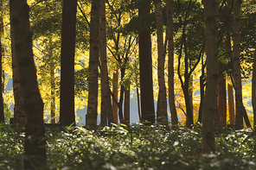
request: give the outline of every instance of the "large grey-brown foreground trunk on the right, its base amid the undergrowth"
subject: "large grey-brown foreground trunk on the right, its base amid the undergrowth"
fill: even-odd
[[[206,91],[202,114],[202,152],[215,152],[214,116],[217,109],[218,95],[218,16],[219,1],[203,1],[204,23],[207,54]]]

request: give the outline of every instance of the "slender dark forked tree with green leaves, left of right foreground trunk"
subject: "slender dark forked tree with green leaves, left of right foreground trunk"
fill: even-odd
[[[181,3],[182,2],[182,3]],[[176,38],[176,54],[178,55],[177,74],[182,85],[186,105],[187,127],[194,124],[194,115],[189,97],[189,81],[196,66],[199,64],[204,51],[204,36],[202,24],[202,5],[190,0],[189,3],[178,0],[176,3],[180,36]],[[185,12],[182,9],[185,8]],[[193,25],[193,26],[192,26]],[[195,46],[197,44],[197,46]]]

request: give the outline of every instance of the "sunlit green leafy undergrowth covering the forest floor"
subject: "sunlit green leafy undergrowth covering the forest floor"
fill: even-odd
[[[22,169],[24,134],[1,125],[0,169]],[[201,126],[97,130],[47,127],[48,169],[255,169],[252,129],[216,132],[215,154],[202,154]]]

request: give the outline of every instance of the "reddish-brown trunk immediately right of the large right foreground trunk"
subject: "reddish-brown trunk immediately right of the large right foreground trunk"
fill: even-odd
[[[218,83],[218,110],[219,110],[219,127],[224,128],[227,126],[227,92],[226,92],[226,79],[221,72],[219,75]]]

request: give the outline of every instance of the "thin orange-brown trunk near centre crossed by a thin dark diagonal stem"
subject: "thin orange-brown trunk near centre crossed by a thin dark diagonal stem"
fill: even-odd
[[[113,97],[118,101],[118,69],[113,73],[113,81],[116,85],[112,85]],[[118,104],[112,100],[113,122],[118,124]]]

